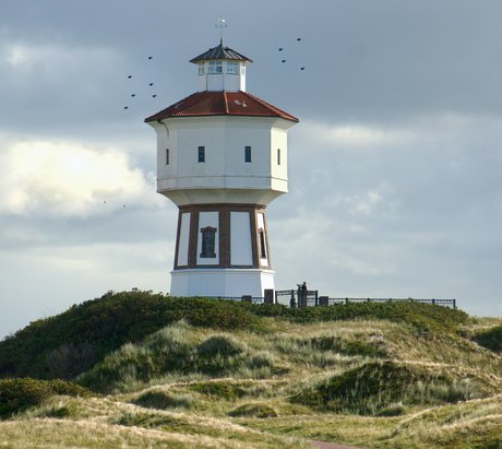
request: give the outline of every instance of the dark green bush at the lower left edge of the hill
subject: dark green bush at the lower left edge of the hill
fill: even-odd
[[[0,380],[0,418],[9,418],[59,394],[82,398],[92,395],[89,390],[64,380],[2,379]]]

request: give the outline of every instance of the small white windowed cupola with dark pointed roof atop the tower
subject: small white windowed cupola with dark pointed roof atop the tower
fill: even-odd
[[[246,66],[251,59],[223,45],[190,60],[198,66],[199,92],[246,92]]]

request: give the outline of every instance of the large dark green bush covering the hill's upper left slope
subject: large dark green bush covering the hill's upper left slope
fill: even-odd
[[[261,319],[232,300],[171,298],[152,292],[108,292],[0,342],[0,377],[75,378],[128,342],[167,324],[261,330]]]

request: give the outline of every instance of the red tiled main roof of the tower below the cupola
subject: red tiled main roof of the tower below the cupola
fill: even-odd
[[[145,121],[163,120],[170,117],[205,116],[280,117],[286,120],[299,121],[290,114],[242,91],[196,92],[145,118]]]

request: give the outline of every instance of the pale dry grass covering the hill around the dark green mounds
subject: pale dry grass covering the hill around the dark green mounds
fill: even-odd
[[[166,364],[151,377],[123,377],[115,394],[53,397],[0,422],[0,447],[307,448],[310,439],[371,448],[502,447],[501,395],[438,406],[411,404],[392,417],[327,413],[290,401],[325,379],[376,361],[477,379],[487,386],[487,394],[502,391],[502,357],[468,338],[418,332],[384,320],[266,320],[267,333],[223,333],[182,322],[144,345],[123,347],[112,357],[127,369],[122,355],[130,363],[136,354],[155,362],[152,354],[189,347],[195,355],[219,357],[219,370],[191,370],[192,359],[186,358],[184,371]],[[477,319],[463,332],[495,324]],[[220,356],[225,351],[231,353],[227,358]],[[239,364],[230,357],[240,357]],[[226,369],[227,362],[231,369]],[[195,361],[193,366],[202,365]]]

